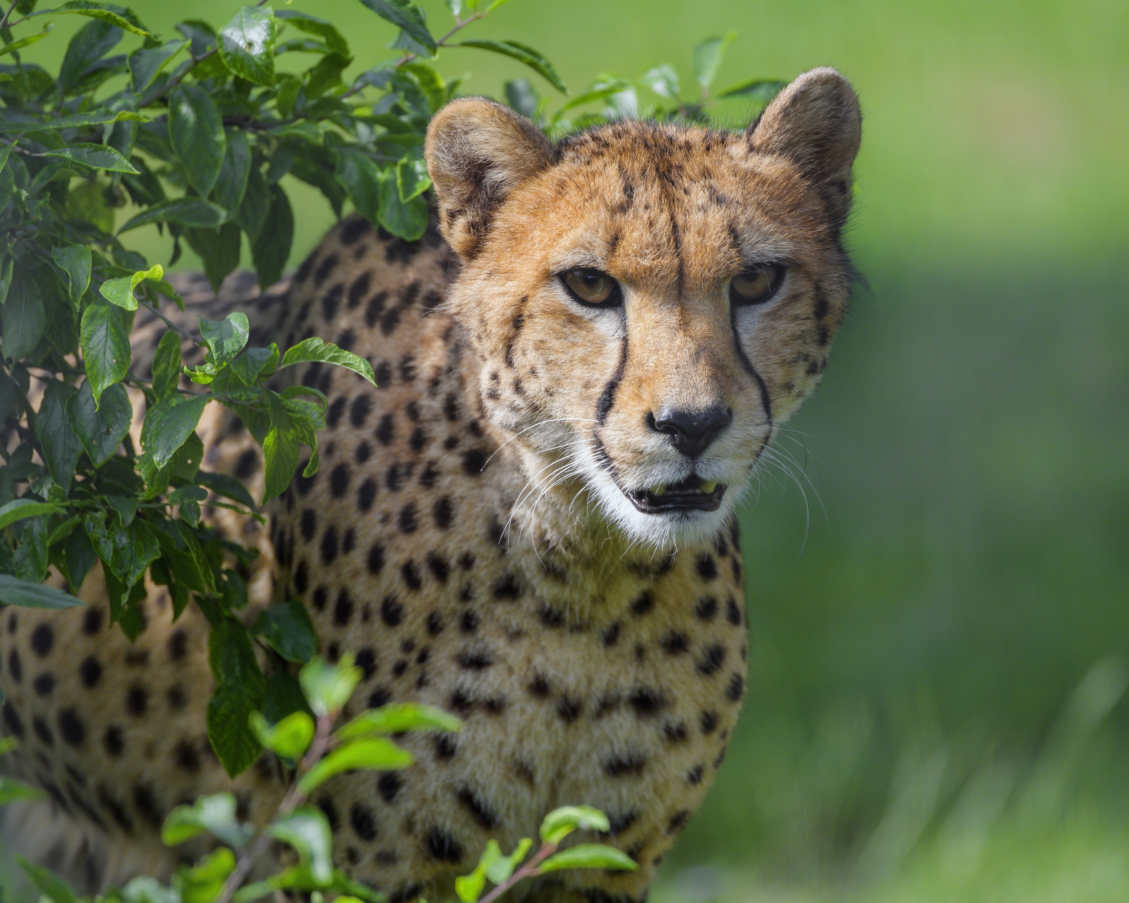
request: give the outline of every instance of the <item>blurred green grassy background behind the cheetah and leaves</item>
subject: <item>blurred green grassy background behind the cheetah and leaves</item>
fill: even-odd
[[[170,35],[236,3],[132,6]],[[356,0],[295,6],[356,71],[394,55]],[[27,59],[56,64],[68,18]],[[467,34],[536,46],[576,90],[659,62],[691,85],[693,44],[730,28],[718,86],[855,85],[866,286],[790,473],[744,516],[750,694],[655,898],[1123,901],[1129,5],[515,0]],[[471,50],[438,68],[495,96],[528,74]],[[289,187],[294,264],[332,214]]]

